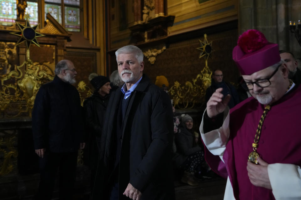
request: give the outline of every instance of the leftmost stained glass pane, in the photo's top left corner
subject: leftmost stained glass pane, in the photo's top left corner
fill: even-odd
[[[17,2],[16,0],[0,1],[0,24],[10,26],[17,19]]]

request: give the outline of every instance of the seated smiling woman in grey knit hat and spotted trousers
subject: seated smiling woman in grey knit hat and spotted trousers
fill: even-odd
[[[174,161],[184,169],[181,181],[194,186],[200,183],[194,174],[204,162],[204,152],[196,141],[192,117],[182,114],[182,126],[180,132],[175,134],[177,156]]]

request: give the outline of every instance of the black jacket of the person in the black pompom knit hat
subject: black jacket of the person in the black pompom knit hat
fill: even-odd
[[[100,136],[103,121],[108,106],[109,96],[102,97],[97,91],[84,101],[84,121],[86,128],[86,146],[84,149],[84,164],[97,166]],[[93,165],[93,166],[92,166]]]

